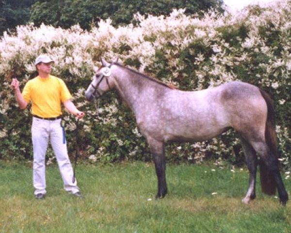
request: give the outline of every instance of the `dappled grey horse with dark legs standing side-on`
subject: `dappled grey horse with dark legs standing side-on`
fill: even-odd
[[[288,194],[278,167],[274,105],[265,91],[240,81],[182,91],[117,60],[108,63],[101,58],[101,63],[85,91],[86,99],[98,99],[114,89],[133,111],[154,159],[156,198],[167,194],[165,143],[205,141],[233,128],[241,139],[249,170],[248,190],[242,202],[256,198],[259,164],[262,192],[275,195],[277,188],[280,203],[286,205]]]

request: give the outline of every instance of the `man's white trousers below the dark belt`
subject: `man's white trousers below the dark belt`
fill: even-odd
[[[32,118],[32,145],[33,145],[33,186],[34,194],[46,194],[46,152],[49,142],[57,158],[64,188],[67,192],[79,191],[77,181],[73,183],[73,168],[70,163],[66,142],[64,143],[61,119],[46,120]]]

